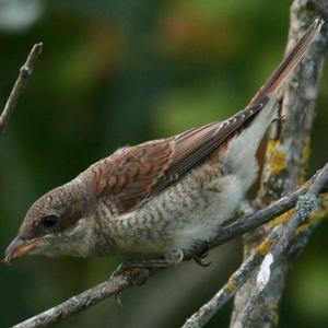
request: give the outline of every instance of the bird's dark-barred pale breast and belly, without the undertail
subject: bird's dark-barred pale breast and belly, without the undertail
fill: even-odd
[[[244,195],[238,177],[224,175],[220,165],[208,162],[133,212],[112,218],[117,251],[187,250],[213,236]]]

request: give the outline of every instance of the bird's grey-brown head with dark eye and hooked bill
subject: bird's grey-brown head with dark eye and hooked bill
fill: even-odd
[[[32,254],[83,256],[87,200],[80,189],[70,183],[40,197],[8,246],[4,262]]]

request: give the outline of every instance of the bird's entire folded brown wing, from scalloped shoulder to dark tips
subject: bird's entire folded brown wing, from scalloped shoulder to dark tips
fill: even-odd
[[[196,167],[245,126],[268,102],[239,112],[223,122],[190,129],[164,140],[125,148],[93,165],[91,180],[98,197],[114,201],[124,213],[165,189]]]

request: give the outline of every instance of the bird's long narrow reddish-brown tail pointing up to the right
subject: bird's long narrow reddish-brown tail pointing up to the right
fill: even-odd
[[[303,56],[307,52],[308,48],[315,40],[316,36],[319,34],[320,28],[324,24],[324,20],[315,20],[305,34],[298,39],[296,45],[291,51],[286,54],[284,59],[278,66],[276,71],[267,80],[267,82],[261,86],[257,94],[251,98],[247,107],[256,104],[263,95],[273,94],[279,86],[284,82],[286,77],[293,71],[295,66],[300,62]]]

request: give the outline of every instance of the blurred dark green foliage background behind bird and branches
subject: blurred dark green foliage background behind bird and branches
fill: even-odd
[[[0,250],[25,211],[125,144],[224,119],[247,104],[284,51],[291,1],[0,0],[0,106],[32,45],[35,73],[0,139]],[[327,85],[328,71],[321,85]],[[321,87],[311,173],[327,161]],[[293,268],[280,327],[328,327],[328,226]],[[238,266],[241,241],[183,263],[59,327],[178,327]],[[0,266],[8,327],[105,280],[120,258],[31,257]],[[231,304],[208,327],[227,327]]]

